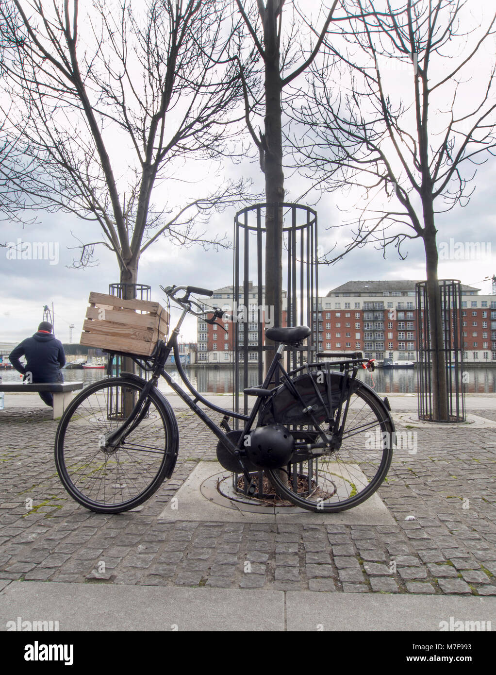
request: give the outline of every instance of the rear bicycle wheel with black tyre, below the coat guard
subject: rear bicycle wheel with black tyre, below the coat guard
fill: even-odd
[[[339,391],[341,377],[333,374],[333,390]],[[304,431],[316,436],[313,427]],[[296,506],[323,513],[344,511],[362,504],[383,483],[393,456],[393,432],[383,401],[373,389],[354,381],[339,450],[267,473],[281,497]]]

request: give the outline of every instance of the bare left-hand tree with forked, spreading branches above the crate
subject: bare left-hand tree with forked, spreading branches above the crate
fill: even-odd
[[[244,182],[210,187],[213,162],[233,155],[228,122],[242,94],[226,52],[236,32],[228,5],[92,0],[82,14],[78,0],[0,2],[0,101],[13,103],[3,113],[22,160],[9,190],[99,223],[103,239],[83,242],[78,264],[105,244],[121,282],[134,284],[140,255],[163,234],[182,246],[224,243],[198,223],[244,196]],[[206,187],[190,178],[194,167],[186,173],[192,160],[204,161]]]

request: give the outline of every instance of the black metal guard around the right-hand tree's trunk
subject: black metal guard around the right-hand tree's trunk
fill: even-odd
[[[463,386],[464,346],[462,321],[462,284],[453,279],[439,281],[443,345],[437,351],[444,358],[448,420],[437,420],[433,413],[433,352],[427,282],[415,285],[417,314],[418,418],[433,422],[464,422],[465,391]]]

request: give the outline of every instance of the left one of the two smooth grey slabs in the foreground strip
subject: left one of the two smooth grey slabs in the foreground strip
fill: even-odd
[[[0,593],[0,630],[7,630],[9,621],[17,624],[18,617],[30,622],[58,621],[61,631],[284,630],[284,594],[13,582]]]

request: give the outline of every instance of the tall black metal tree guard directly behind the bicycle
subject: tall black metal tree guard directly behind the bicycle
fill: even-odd
[[[270,207],[274,208],[274,205]],[[284,202],[275,207],[283,208],[283,288],[286,288],[283,290],[283,325],[308,325],[312,329],[305,348],[286,350],[285,368],[290,371],[303,365],[305,360],[312,362],[312,355],[315,354],[318,344],[314,333],[314,325],[318,327],[318,322],[315,324],[313,320],[319,298],[317,215],[313,209],[300,204]],[[265,304],[263,286],[266,231],[262,223],[265,222],[266,209],[267,204],[256,204],[238,211],[234,217],[233,314],[240,307],[244,310],[244,322],[235,321],[233,330],[233,408],[238,412],[240,389],[248,387],[248,365],[256,363],[258,381],[263,382],[264,354],[272,355],[275,350],[273,346],[263,344],[265,322],[269,317],[261,315],[261,308]],[[253,288],[255,284],[256,292]],[[256,298],[251,297],[254,295]],[[254,312],[250,312],[250,305],[256,306],[256,317]],[[250,325],[254,323],[256,327],[250,330]],[[256,340],[250,340],[250,333],[252,336],[256,333]],[[248,396],[244,396],[243,407],[244,414],[247,414]],[[308,476],[314,477],[312,462],[308,464]],[[254,496],[273,497],[264,493],[263,478],[264,472],[260,470],[258,493]],[[246,485],[238,487],[239,481],[243,483],[241,479],[242,475],[234,474],[233,487],[236,491],[246,493]]]

